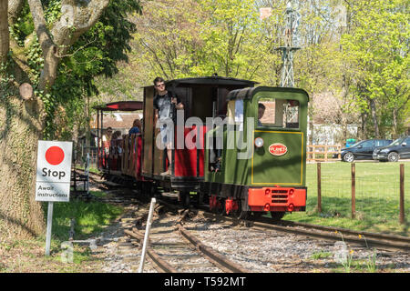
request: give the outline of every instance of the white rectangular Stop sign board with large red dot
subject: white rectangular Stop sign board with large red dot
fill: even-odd
[[[72,151],[72,142],[38,141],[36,201],[69,201]]]

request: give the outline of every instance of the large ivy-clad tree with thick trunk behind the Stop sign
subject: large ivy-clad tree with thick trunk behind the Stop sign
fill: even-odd
[[[12,60],[0,72],[1,240],[44,232],[43,211],[34,201],[37,140],[69,135],[43,133],[47,125],[75,124],[84,110],[83,97],[96,91],[93,76],[117,72],[116,62],[127,59],[134,29],[127,14],[140,11],[132,0],[17,2],[10,1],[16,9],[8,15]],[[35,88],[34,94],[19,94],[24,82]],[[64,117],[52,117],[56,112]]]

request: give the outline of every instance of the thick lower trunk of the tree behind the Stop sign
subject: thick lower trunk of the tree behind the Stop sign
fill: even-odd
[[[45,233],[42,206],[35,201],[42,125],[36,100],[22,101],[16,88],[0,95],[0,241],[9,241]]]

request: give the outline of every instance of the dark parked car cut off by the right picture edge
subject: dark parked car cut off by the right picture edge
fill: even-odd
[[[410,158],[410,135],[397,138],[389,146],[374,149],[373,158],[389,162],[397,162],[400,158]]]

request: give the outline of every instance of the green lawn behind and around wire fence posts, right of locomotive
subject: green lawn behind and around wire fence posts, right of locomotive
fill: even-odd
[[[406,226],[399,224],[400,164],[405,164]],[[322,164],[322,213],[317,212],[317,165],[308,164],[308,199],[305,213],[284,219],[323,226],[409,236],[410,162],[356,163],[356,218],[351,219],[351,164]]]

